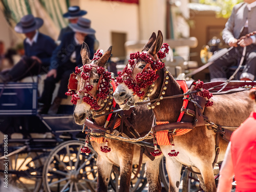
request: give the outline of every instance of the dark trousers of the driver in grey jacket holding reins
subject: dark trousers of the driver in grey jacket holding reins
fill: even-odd
[[[210,78],[228,78],[227,73],[229,67],[238,66],[243,54],[243,48],[238,46],[231,49],[228,53],[217,59],[209,66]],[[244,58],[245,68],[242,73],[251,73],[256,76],[256,46],[250,45],[246,47]]]

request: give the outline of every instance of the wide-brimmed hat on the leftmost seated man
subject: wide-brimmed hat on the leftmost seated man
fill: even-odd
[[[20,19],[20,22],[17,23],[14,30],[17,33],[29,33],[31,31],[39,29],[42,24],[44,24],[44,20],[29,14],[23,16],[22,19]]]

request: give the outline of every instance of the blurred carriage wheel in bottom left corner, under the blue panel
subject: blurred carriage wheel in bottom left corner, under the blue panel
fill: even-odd
[[[37,192],[42,185],[42,159],[37,152],[26,150],[8,157],[8,182],[14,188]]]

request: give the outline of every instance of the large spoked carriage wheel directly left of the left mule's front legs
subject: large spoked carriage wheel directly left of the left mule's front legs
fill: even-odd
[[[97,186],[97,153],[80,152],[84,141],[66,141],[50,153],[43,170],[45,191],[95,191]]]

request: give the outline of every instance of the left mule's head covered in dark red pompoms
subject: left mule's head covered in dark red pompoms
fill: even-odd
[[[104,68],[104,65],[110,58],[111,51],[112,46],[104,54],[102,54],[102,50],[99,50],[93,60],[90,60],[90,51],[87,44],[83,43],[82,45],[81,57],[83,66],[77,70],[78,92],[73,114],[77,124],[83,124],[86,118],[94,111],[104,107],[103,100],[105,95],[108,94],[107,89],[110,88],[108,87],[108,83],[111,78],[111,73]],[[108,81],[106,86],[103,85],[105,80]]]

